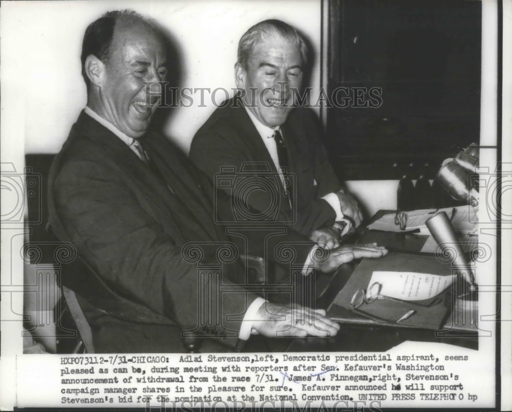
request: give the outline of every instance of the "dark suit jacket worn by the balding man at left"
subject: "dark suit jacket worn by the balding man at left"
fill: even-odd
[[[182,255],[186,243],[202,242],[203,264],[216,261],[219,242],[231,242],[241,253],[265,256],[268,251],[261,231],[244,242],[228,237],[224,226],[215,223],[209,179],[172,143],[151,132],[142,139],[156,171],[82,112],[49,174],[52,228],[76,246],[94,272],[81,285],[75,282],[74,289],[82,298],[98,352],[183,350],[179,332],[194,329],[204,313],[204,302],[198,301],[198,263]],[[288,232],[269,238],[268,248],[305,240]],[[310,246],[297,246],[297,260],[305,261]],[[222,285],[235,289],[219,297],[224,327],[210,324],[203,332],[217,335],[227,329],[228,336],[236,335],[255,295],[244,290],[240,260],[224,265],[222,276]],[[98,296],[93,291],[83,299],[87,294],[82,288],[96,280],[111,296],[98,287]],[[112,301],[131,307],[116,311]]]

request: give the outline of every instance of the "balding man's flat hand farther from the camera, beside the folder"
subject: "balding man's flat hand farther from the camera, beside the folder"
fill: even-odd
[[[321,249],[318,251],[322,251]],[[324,273],[333,272],[343,263],[348,263],[354,259],[361,258],[379,258],[386,256],[388,250],[384,246],[377,246],[377,243],[369,244],[346,244],[340,248],[333,249],[327,259],[321,258],[321,253],[316,255],[318,259],[314,259],[315,269]]]

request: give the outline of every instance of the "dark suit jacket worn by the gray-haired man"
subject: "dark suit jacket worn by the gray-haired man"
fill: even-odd
[[[190,159],[212,181],[221,167],[234,166],[239,173],[244,162],[264,162],[276,174],[270,154],[241,100],[233,98],[225,101],[223,106],[210,116],[194,136]],[[287,172],[295,177],[292,189],[295,222],[291,227],[309,236],[313,230],[334,223],[335,213],[321,197],[338,191],[341,186],[319,139],[321,127],[311,110],[293,109],[281,130],[290,163]],[[255,168],[259,166],[250,166],[250,170]],[[236,195],[240,195],[240,192]],[[247,200],[254,209],[265,211],[273,201],[270,196],[269,192],[259,191],[257,196],[248,197]],[[280,199],[280,208],[283,216],[290,213],[289,203],[284,197]],[[284,220],[287,220],[286,217],[283,217]]]

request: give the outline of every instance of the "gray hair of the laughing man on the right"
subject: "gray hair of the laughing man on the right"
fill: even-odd
[[[301,51],[303,64],[307,63],[308,46],[306,40],[289,24],[281,20],[271,19],[255,24],[240,38],[238,43],[238,64],[247,69],[254,46],[272,34],[280,34],[286,40],[295,42]]]

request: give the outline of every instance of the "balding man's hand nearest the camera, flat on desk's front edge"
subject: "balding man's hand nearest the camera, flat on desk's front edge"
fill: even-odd
[[[252,327],[263,336],[334,336],[339,325],[327,318],[323,309],[265,302]]]

